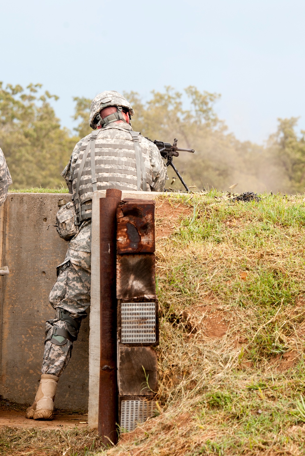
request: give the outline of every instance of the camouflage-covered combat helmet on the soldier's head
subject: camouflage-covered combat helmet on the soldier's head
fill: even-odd
[[[116,92],[115,90],[105,90],[105,92],[96,95],[96,97],[91,102],[89,124],[90,127],[93,128],[93,130],[95,130],[97,125],[101,123],[100,110],[106,108],[107,106],[118,107],[118,112],[115,114],[110,114],[110,116],[115,117],[114,119],[110,119],[107,121],[107,118],[110,117],[107,116],[104,119],[104,124],[109,124],[110,122],[115,122],[116,120],[123,120],[125,122],[125,119],[123,118],[120,112],[122,108],[127,108],[129,110],[130,115],[135,114],[135,111],[132,109],[130,103],[126,100],[126,98],[123,97],[123,95],[121,95],[119,92]]]

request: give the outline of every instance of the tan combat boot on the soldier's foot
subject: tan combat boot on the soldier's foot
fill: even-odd
[[[59,377],[42,374],[33,405],[26,409],[25,418],[53,420],[54,399]]]

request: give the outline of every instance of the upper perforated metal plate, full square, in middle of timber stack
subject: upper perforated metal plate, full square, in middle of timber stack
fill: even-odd
[[[155,342],[155,302],[121,303],[121,342]]]

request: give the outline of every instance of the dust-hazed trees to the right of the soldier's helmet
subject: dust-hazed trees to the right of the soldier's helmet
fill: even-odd
[[[190,86],[185,93],[167,87],[164,93],[152,92],[143,103],[138,93],[125,93],[135,109],[134,130],[150,139],[172,142],[176,137],[180,147],[195,149],[195,154],[180,152],[175,164],[189,186],[197,190],[218,188],[228,190],[238,183],[236,191],[272,190],[273,192],[303,192],[305,187],[305,132],[295,133],[297,119],[278,119],[275,135],[267,146],[241,142],[227,131],[218,119],[214,105],[216,93],[201,93]],[[182,99],[188,99],[189,109]],[[175,173],[169,169],[171,178]],[[182,188],[178,179],[173,188]]]

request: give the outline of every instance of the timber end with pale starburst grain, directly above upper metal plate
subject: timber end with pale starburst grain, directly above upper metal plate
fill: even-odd
[[[155,255],[118,255],[116,297],[131,299],[155,296]]]

